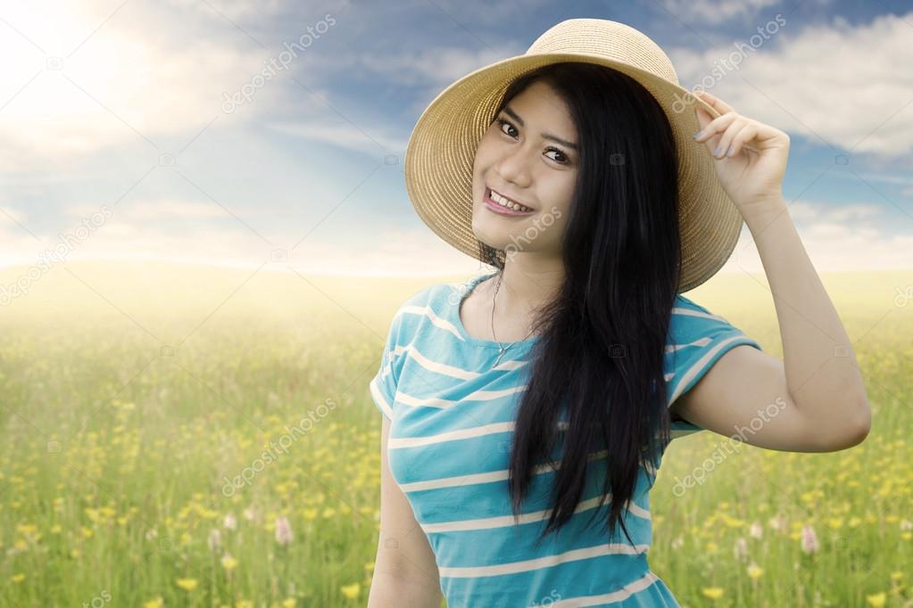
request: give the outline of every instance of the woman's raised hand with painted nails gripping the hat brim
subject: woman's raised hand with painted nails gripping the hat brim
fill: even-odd
[[[720,114],[713,118],[695,105],[701,129],[696,141],[706,142],[719,183],[742,215],[782,200],[790,137],[770,125],[741,116],[706,91],[695,91],[694,95]],[[719,155],[714,155],[718,146]],[[726,156],[730,146],[731,156]]]

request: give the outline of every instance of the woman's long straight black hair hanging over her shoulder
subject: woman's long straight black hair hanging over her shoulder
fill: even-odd
[[[576,126],[580,165],[561,243],[564,283],[534,321],[529,384],[510,453],[516,519],[533,468],[551,459],[567,408],[561,466],[541,541],[571,519],[586,486],[588,456],[606,450],[598,507],[611,493],[613,534],[636,489],[639,468],[655,471],[669,442],[663,356],[680,280],[677,149],[656,99],[617,70],[559,63],[509,84],[495,113],[533,82],[551,86]],[[507,252],[479,242],[504,270]],[[650,485],[653,479],[649,480]]]

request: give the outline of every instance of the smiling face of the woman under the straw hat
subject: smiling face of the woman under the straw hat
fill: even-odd
[[[550,86],[535,82],[511,99],[476,149],[472,168],[476,238],[508,255],[557,255],[577,180],[578,144],[571,114]],[[498,195],[531,211],[492,210],[487,200],[498,200]]]

